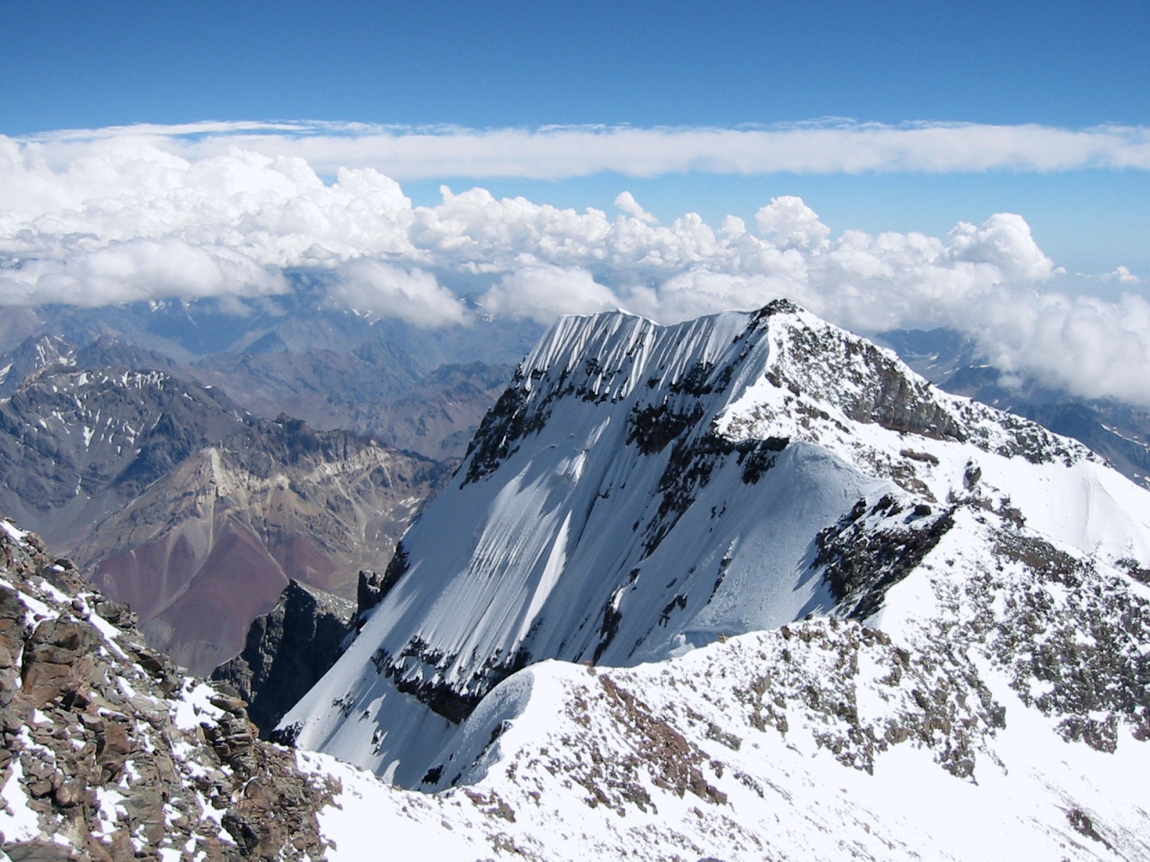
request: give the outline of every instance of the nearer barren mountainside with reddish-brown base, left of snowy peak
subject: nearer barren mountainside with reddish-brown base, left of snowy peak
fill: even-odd
[[[55,367],[0,402],[0,505],[207,674],[290,578],[352,594],[451,468],[166,372]]]

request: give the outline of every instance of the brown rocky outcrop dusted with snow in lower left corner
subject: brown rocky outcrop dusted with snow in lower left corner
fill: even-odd
[[[323,856],[335,786],[259,742],[241,700],[146,647],[36,536],[0,524],[0,786],[23,809],[5,859]]]

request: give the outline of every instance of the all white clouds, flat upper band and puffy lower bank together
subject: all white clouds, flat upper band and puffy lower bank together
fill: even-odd
[[[1150,405],[1150,306],[1140,294],[1118,302],[1065,295],[1059,290],[1065,277],[1018,215],[959,223],[945,237],[853,230],[836,237],[804,201],[790,197],[764,206],[753,228],[734,216],[711,225],[695,214],[660,224],[629,192],[619,195],[619,211],[611,215],[497,199],[483,188],[455,194],[445,187],[439,205],[413,207],[393,178],[363,164],[390,157],[370,156],[377,138],[402,147],[434,139],[448,153],[485,136],[505,146],[478,147],[478,155],[473,153],[478,161],[470,164],[488,164],[497,152],[508,164],[521,160],[515,147],[526,137],[544,154],[576,153],[570,157],[583,160],[580,170],[601,170],[610,161],[606,151],[590,146],[597,143],[615,147],[612,159],[630,154],[635,172],[668,170],[674,168],[667,164],[698,164],[706,146],[731,136],[723,144],[727,155],[713,156],[712,169],[742,170],[741,164],[767,157],[746,141],[776,136],[769,138],[774,151],[767,147],[774,155],[802,155],[807,169],[928,162],[974,169],[992,159],[996,164],[1023,160],[1019,153],[1027,164],[1048,169],[1150,166],[1145,132],[1129,129],[820,126],[421,138],[378,129],[220,124],[59,133],[36,141],[0,137],[0,305],[264,295],[288,290],[283,272],[294,268],[324,271],[334,301],[419,326],[466,322],[461,301],[443,284],[447,276],[467,276],[489,313],[540,322],[614,307],[670,322],[790,297],[864,332],[953,326],[977,338],[1007,371]],[[828,155],[827,141],[843,136],[868,141],[846,167],[845,149]],[[352,153],[347,162],[355,167],[335,167],[335,182],[325,183],[320,174],[329,171],[317,164],[335,157],[322,148],[336,144]],[[308,146],[315,154],[305,157]],[[291,147],[297,149],[286,152]],[[739,162],[733,154],[744,151],[750,161]],[[447,159],[439,152],[424,153],[431,160],[425,163]],[[620,162],[612,163],[619,169]],[[1104,278],[1138,290],[1138,276],[1126,268]]]

